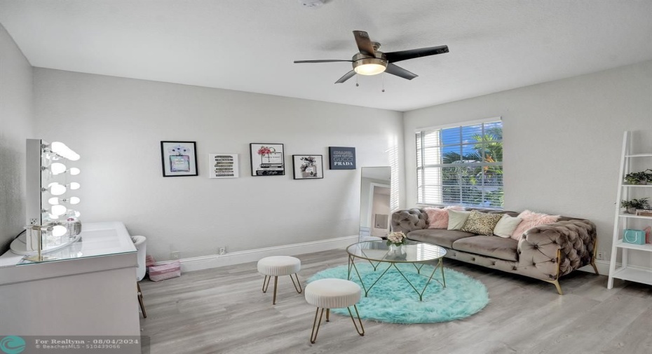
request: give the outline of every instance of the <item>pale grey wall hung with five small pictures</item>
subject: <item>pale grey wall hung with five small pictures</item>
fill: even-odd
[[[358,235],[360,167],[403,155],[397,111],[39,68],[34,102],[39,135],[81,154],[82,221],[122,221],[160,260]],[[196,141],[200,175],[162,177],[161,140]],[[286,175],[252,177],[251,142],[285,144]],[[328,170],[329,146],[358,169]],[[240,154],[240,178],[208,179],[209,153]],[[292,154],[325,177],[293,180]]]

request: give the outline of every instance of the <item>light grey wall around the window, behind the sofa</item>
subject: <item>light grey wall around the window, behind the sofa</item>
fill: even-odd
[[[503,117],[505,209],[591,219],[599,250],[610,252],[623,131],[652,128],[652,61],[405,112],[409,207],[416,128],[496,116]],[[641,261],[652,266],[649,257]]]

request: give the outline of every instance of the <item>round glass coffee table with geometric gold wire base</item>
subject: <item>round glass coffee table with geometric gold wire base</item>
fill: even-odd
[[[369,291],[372,290],[374,285],[376,285],[383,275],[390,270],[390,268],[395,268],[400,275],[403,276],[405,281],[414,289],[417,295],[419,295],[419,301],[423,301],[423,294],[426,292],[426,288],[430,284],[430,281],[433,280],[433,275],[437,268],[440,268],[442,272],[442,282],[435,279],[436,282],[439,282],[443,287],[446,287],[446,278],[444,278],[444,264],[442,259],[446,254],[446,250],[443,247],[432,245],[430,243],[416,242],[416,241],[407,241],[400,248],[400,251],[390,250],[390,247],[386,244],[387,241],[365,241],[360,243],[355,243],[346,247],[346,252],[348,253],[348,280],[351,280],[351,271],[355,271],[360,279],[360,284],[365,290],[365,297],[369,295]],[[393,248],[393,247],[392,247]],[[355,266],[355,259],[362,259],[368,261],[374,268],[374,272],[380,268],[381,264],[387,264],[387,268],[379,275],[376,280],[367,287],[365,282],[362,281],[362,276],[358,271],[358,267]],[[416,273],[421,274],[421,268],[426,265],[426,262],[436,261],[437,265],[433,269],[433,272],[430,273],[428,277],[428,282],[423,287],[423,290],[419,291],[416,289],[414,284],[408,280],[403,271],[396,266],[397,264],[409,263],[414,266]],[[424,275],[426,276],[426,275]]]

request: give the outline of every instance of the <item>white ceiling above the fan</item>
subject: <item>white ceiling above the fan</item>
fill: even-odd
[[[34,67],[407,111],[652,60],[652,1],[0,0],[0,23]],[[419,77],[360,76],[354,29]],[[381,93],[384,86],[385,93]]]

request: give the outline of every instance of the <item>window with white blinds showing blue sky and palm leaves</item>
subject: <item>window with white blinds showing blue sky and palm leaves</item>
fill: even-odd
[[[503,123],[416,132],[417,203],[503,208]]]

